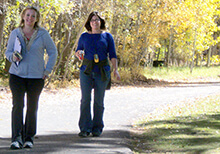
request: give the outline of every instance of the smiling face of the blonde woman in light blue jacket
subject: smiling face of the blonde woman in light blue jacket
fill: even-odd
[[[37,22],[37,12],[33,9],[27,9],[23,16],[24,26],[34,27]]]

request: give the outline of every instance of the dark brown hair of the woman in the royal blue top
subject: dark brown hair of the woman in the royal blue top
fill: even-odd
[[[100,19],[100,22],[101,22],[101,25],[100,25],[100,29],[101,30],[105,30],[106,27],[105,27],[105,20],[102,19],[100,16],[99,16],[99,13],[97,11],[93,11],[89,14],[89,17],[85,23],[85,28],[87,29],[87,31],[92,31],[92,27],[90,26],[90,21],[92,19],[93,16],[97,16],[99,19]]]

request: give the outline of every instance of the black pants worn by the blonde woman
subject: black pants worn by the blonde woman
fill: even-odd
[[[40,93],[44,87],[43,79],[20,78],[10,75],[9,85],[12,92],[12,142],[21,145],[25,141],[33,143],[37,130],[37,110]],[[24,97],[26,93],[27,111],[23,121]]]

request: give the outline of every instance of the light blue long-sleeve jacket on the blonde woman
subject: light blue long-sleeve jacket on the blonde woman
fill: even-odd
[[[19,65],[16,65],[12,60],[16,37],[21,42],[23,57]],[[50,74],[55,65],[57,48],[50,34],[44,28],[39,28],[35,38],[30,42],[31,45],[27,46],[21,28],[16,28],[11,32],[5,52],[6,58],[12,63],[9,73],[22,78],[42,78],[44,75]],[[47,62],[45,61],[45,51],[48,55]]]

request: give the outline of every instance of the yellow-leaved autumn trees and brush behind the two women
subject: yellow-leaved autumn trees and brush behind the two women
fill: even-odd
[[[210,66],[219,63],[218,0],[2,0],[0,2],[0,68],[8,36],[26,5],[37,5],[42,26],[56,43],[59,58],[53,79],[76,77],[77,40],[91,11],[105,18],[115,39],[120,68]]]

